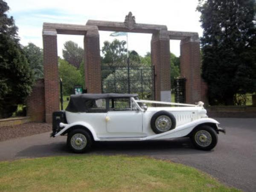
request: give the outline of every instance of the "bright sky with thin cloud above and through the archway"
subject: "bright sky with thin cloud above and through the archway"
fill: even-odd
[[[203,29],[199,22],[200,13],[196,12],[198,0],[6,0],[19,28],[20,43],[29,42],[43,47],[42,27],[44,22],[86,24],[87,20],[125,20],[132,12],[136,23],[166,25],[168,30],[198,32]],[[125,40],[125,36],[111,37],[112,32],[99,31],[100,48],[104,41],[115,38]],[[62,57],[63,44],[74,41],[83,47],[82,35],[58,35],[58,56]],[[150,52],[151,34],[129,33],[129,50],[135,50],[144,56]],[[170,51],[180,55],[180,41],[170,41]]]

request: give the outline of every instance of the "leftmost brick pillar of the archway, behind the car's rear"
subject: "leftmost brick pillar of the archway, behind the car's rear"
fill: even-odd
[[[44,46],[44,88],[45,88],[45,120],[52,122],[52,112],[59,111],[59,77],[57,32],[43,31]]]

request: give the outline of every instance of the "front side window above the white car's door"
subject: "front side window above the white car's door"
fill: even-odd
[[[109,111],[131,111],[130,98],[110,98]]]

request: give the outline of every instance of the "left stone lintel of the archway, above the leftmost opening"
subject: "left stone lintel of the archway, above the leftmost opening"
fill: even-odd
[[[43,35],[57,34],[66,35],[85,35],[89,31],[98,31],[96,26],[76,25],[76,24],[64,24],[64,23],[44,23]]]

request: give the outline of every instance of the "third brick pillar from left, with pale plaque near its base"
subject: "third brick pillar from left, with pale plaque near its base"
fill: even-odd
[[[171,102],[170,38],[167,31],[152,35],[151,62],[155,69],[155,100]]]

